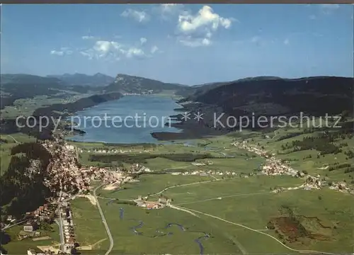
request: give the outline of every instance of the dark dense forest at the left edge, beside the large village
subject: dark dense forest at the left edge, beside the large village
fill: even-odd
[[[2,215],[20,217],[35,210],[51,196],[43,185],[45,170],[51,155],[37,142],[28,142],[11,149],[11,162],[0,180],[0,205]],[[39,171],[30,173],[31,162],[38,162]]]

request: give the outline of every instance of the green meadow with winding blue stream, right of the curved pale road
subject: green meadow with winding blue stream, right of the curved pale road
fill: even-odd
[[[190,215],[186,212],[165,208],[164,210],[144,210],[132,205],[106,205],[101,201],[110,231],[114,239],[113,254],[200,254],[200,247],[195,242],[198,237],[204,236],[204,232],[210,233],[209,239],[202,240],[205,253],[218,251],[220,254],[237,253],[240,251],[236,244],[224,236],[217,225],[209,225],[207,219]],[[119,208],[124,208],[122,219]],[[141,228],[137,228],[141,235],[135,234],[132,227],[143,222]],[[176,223],[185,227],[185,231],[173,225],[164,229],[169,223]],[[159,236],[157,229],[173,234]]]

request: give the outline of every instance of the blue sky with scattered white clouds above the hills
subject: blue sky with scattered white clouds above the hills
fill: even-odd
[[[353,77],[353,5],[2,5],[1,72]]]

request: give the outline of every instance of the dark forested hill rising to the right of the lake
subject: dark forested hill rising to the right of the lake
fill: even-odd
[[[233,115],[255,111],[273,115],[301,111],[312,115],[352,113],[353,86],[354,79],[346,77],[256,77],[208,84],[189,91],[183,101],[222,106]]]

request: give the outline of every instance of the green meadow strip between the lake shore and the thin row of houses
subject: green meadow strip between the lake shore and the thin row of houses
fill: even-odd
[[[185,141],[187,142],[187,141]],[[129,168],[130,163],[124,162],[122,157],[126,159],[134,158],[134,162],[143,164],[147,168],[153,171],[160,170],[172,170],[176,171],[195,171],[200,169],[205,169],[206,171],[237,171],[241,172],[246,170],[249,172],[250,169],[258,169],[258,167],[264,162],[261,158],[254,157],[251,153],[246,152],[242,149],[237,149],[231,145],[232,137],[212,137],[208,139],[193,140],[193,146],[185,145],[185,142],[176,143],[163,143],[161,145],[105,145],[102,143],[85,143],[85,142],[70,142],[79,148],[79,159],[83,164],[89,165],[109,165],[110,162],[99,162],[90,160],[91,155],[98,156],[109,156],[115,153],[100,154],[93,152],[93,150],[105,150],[105,151],[115,151],[122,150],[125,153],[120,154],[121,159],[115,160],[115,162],[124,163],[124,165]],[[81,152],[82,150],[82,152]],[[147,150],[147,151],[145,151]],[[178,154],[190,155],[190,157],[198,157],[198,155],[209,155],[210,160],[214,163],[210,166],[193,166],[191,162],[185,162],[183,160],[173,160],[168,159],[166,156]],[[165,156],[164,156],[165,155]],[[169,156],[170,157],[170,156]],[[230,157],[237,157],[238,161]],[[203,162],[205,159],[196,159],[195,162]]]

